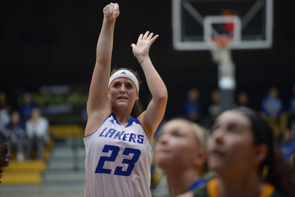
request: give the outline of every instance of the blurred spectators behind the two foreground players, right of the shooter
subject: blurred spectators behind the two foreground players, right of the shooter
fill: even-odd
[[[267,92],[268,94],[256,105],[251,102],[251,96],[247,92],[238,92],[233,108],[245,106],[257,111],[273,128],[281,153],[286,159],[293,161],[295,158],[295,85],[292,87],[290,98],[282,98],[277,86],[269,87]],[[214,119],[222,112],[220,91],[218,89],[211,91],[211,104],[205,114],[202,113],[200,97],[201,94],[196,88],[187,91],[182,116],[210,130]],[[256,109],[254,106],[259,108]]]

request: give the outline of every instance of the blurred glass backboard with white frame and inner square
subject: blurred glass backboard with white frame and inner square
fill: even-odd
[[[273,0],[172,0],[173,47],[210,50],[214,37],[231,49],[272,46]]]

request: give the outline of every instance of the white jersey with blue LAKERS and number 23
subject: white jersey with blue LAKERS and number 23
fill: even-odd
[[[140,122],[126,127],[110,114],[96,132],[83,138],[86,197],[148,197],[152,146]]]

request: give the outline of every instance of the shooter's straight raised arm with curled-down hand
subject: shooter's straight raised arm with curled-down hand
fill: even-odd
[[[104,21],[97,42],[96,63],[91,79],[89,98],[87,101],[87,124],[94,122],[99,124],[100,117],[101,119],[105,119],[106,117],[102,116],[105,113],[111,112],[107,91],[111,70],[114,25],[116,18],[119,15],[119,5],[111,3],[104,8],[103,12]],[[86,130],[89,129],[86,128]]]

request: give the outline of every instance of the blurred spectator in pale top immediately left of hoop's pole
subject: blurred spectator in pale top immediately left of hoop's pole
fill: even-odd
[[[210,127],[213,124],[215,118],[222,112],[222,106],[220,104],[220,91],[214,89],[211,91],[211,104],[208,107],[208,113],[210,115]]]

